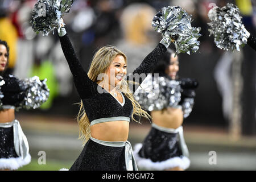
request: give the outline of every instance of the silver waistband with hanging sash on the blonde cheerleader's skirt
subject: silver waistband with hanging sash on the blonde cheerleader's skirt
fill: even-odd
[[[133,148],[131,147],[131,143],[129,141],[126,142],[109,142],[104,140],[98,140],[96,138],[90,137],[93,142],[98,144],[102,144],[104,146],[109,147],[125,147],[125,166],[127,171],[138,171],[137,163],[135,162],[135,158],[133,155]],[[133,165],[134,163],[134,165]]]

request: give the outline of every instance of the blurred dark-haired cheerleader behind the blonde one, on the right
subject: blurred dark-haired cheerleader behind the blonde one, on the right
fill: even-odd
[[[138,168],[180,171],[189,167],[182,123],[192,110],[197,82],[188,78],[177,81],[178,71],[178,57],[168,49],[153,71],[159,76],[148,75],[143,89],[135,92],[139,104],[151,111],[152,117],[150,133],[134,146]]]

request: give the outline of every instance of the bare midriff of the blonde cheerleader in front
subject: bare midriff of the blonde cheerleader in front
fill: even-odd
[[[109,142],[125,142],[129,134],[128,121],[108,121],[90,126],[90,134],[93,138]]]

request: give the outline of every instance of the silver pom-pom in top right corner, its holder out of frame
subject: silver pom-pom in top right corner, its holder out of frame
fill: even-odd
[[[240,46],[247,43],[250,33],[242,23],[242,16],[236,5],[228,3],[222,8],[215,6],[209,11],[208,17],[211,20],[208,23],[209,36],[214,36],[214,43],[218,48],[240,51]]]

